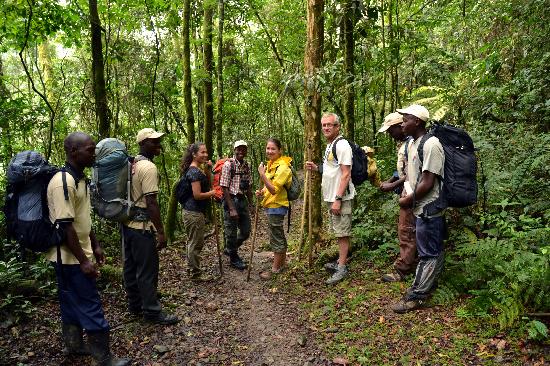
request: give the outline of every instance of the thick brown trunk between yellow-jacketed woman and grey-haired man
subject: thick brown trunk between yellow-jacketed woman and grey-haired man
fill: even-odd
[[[307,1],[307,41],[304,56],[305,69],[305,159],[317,161],[321,156],[321,93],[317,82],[317,73],[322,66],[323,61],[323,41],[324,41],[324,0]],[[311,230],[313,245],[319,238],[321,228],[321,177],[318,173],[313,173],[312,200],[313,205]]]

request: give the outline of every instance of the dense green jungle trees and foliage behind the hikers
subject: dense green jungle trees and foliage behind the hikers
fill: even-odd
[[[256,167],[277,137],[301,169],[321,158],[324,111],[375,148],[385,179],[395,144],[376,132],[396,108],[422,104],[468,131],[479,158],[479,204],[448,215],[438,301],[467,294],[465,314],[545,338],[544,322],[526,314],[550,309],[549,9],[548,0],[1,0],[0,191],[18,151],[61,164],[63,138],[80,130],[135,154],[137,131],[152,127],[167,133],[157,165],[173,216],[190,142],[204,141],[214,161],[246,140]],[[386,264],[396,207],[360,187],[354,246],[385,253]],[[314,209],[319,238],[319,177]]]

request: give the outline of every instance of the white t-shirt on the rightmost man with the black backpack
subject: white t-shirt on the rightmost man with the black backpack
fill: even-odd
[[[407,180],[409,181],[412,189],[416,187],[416,180],[420,174],[420,159],[418,157],[418,145],[422,137],[416,139],[415,141],[411,140],[409,142],[409,163],[407,165]],[[445,167],[445,153],[443,152],[443,146],[439,142],[439,139],[435,136],[430,137],[424,143],[424,156],[422,171],[429,171],[435,175],[443,178],[444,167]],[[434,186],[431,191],[428,192],[421,200],[416,201],[416,207],[413,210],[415,216],[420,217],[422,214],[422,209],[428,203],[435,201],[439,197],[440,186],[443,185],[442,179],[436,178]],[[431,217],[441,216],[443,212],[439,212]]]

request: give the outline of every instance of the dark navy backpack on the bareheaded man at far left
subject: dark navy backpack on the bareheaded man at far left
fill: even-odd
[[[4,215],[8,239],[33,252],[46,252],[60,246],[65,240],[65,231],[50,221],[47,189],[51,178],[59,169],[48,164],[36,151],[23,151],[15,155],[8,165],[8,186]],[[65,199],[69,199],[67,181],[63,176]]]

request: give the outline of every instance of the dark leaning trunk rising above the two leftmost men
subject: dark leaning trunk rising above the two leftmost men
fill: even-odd
[[[103,67],[103,46],[101,44],[101,22],[97,12],[97,0],[88,0],[90,7],[90,26],[92,35],[92,75],[95,97],[96,117],[99,120],[99,138],[108,137],[111,124],[107,89],[105,88],[105,69]]]

